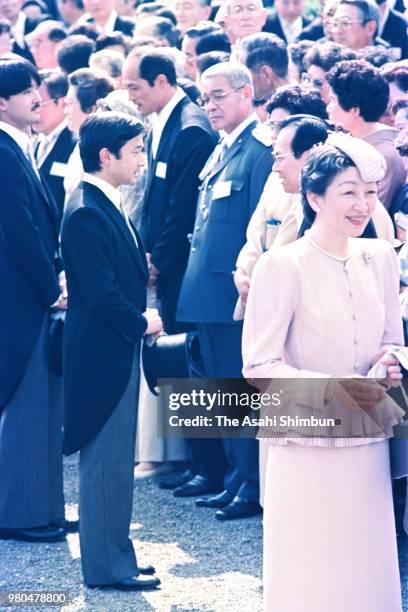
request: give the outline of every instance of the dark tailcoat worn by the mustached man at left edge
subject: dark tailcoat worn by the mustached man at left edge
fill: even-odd
[[[60,294],[58,213],[17,143],[0,130],[0,410],[21,380]]]

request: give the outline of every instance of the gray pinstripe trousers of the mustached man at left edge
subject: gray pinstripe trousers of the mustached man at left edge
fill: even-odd
[[[48,315],[23,377],[0,415],[0,527],[64,519],[61,381],[45,348]]]

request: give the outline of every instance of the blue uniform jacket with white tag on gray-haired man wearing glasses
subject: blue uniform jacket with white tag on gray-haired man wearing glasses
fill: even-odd
[[[272,169],[271,147],[251,123],[217,162],[217,149],[201,178],[196,225],[181,287],[177,320],[231,323],[238,299],[233,270],[246,230]]]

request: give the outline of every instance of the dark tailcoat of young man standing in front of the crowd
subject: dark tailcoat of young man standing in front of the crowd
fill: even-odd
[[[146,331],[146,254],[133,229],[138,247],[121,213],[89,183],[83,184],[82,206],[64,217],[66,454],[83,448],[109,419]]]

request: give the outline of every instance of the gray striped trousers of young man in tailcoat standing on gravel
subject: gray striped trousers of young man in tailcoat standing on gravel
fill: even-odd
[[[80,451],[79,536],[85,584],[138,574],[129,527],[139,393],[137,347],[128,386],[98,435]]]

